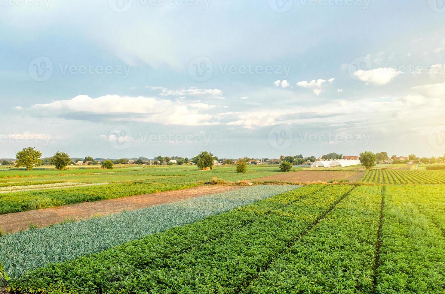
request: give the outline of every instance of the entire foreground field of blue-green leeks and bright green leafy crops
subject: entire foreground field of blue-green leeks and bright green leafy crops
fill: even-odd
[[[17,293],[444,293],[444,211],[441,184],[260,185],[6,235],[0,260]]]

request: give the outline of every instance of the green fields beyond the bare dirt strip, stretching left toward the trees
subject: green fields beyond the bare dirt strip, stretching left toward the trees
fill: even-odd
[[[11,178],[7,175],[16,174]],[[28,183],[39,190],[0,193],[0,214],[57,207],[82,202],[116,199],[134,195],[172,191],[196,187],[216,177],[224,181],[240,181],[279,174],[276,166],[249,167],[247,173],[237,174],[235,167],[214,167],[212,171],[198,171],[194,166],[121,168],[115,170],[75,169],[68,171],[0,171],[2,189],[16,189]],[[2,178],[7,177],[6,179]],[[21,176],[24,176],[21,178]],[[63,182],[103,184],[87,187],[63,187],[49,189],[48,185],[63,185]],[[45,183],[43,183],[45,182]],[[105,185],[106,183],[106,185]],[[48,189],[40,189],[48,187]]]

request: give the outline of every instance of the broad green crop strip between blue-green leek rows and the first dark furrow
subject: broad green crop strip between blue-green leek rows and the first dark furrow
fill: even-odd
[[[306,186],[10,282],[18,293],[235,293],[352,189]]]

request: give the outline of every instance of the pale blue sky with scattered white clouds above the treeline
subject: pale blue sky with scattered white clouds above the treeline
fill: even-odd
[[[0,158],[445,153],[442,0],[0,0]]]

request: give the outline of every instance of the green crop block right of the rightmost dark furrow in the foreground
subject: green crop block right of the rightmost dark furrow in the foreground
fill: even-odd
[[[436,189],[443,209],[443,185],[385,187],[378,293],[445,293],[444,231],[429,219]]]

